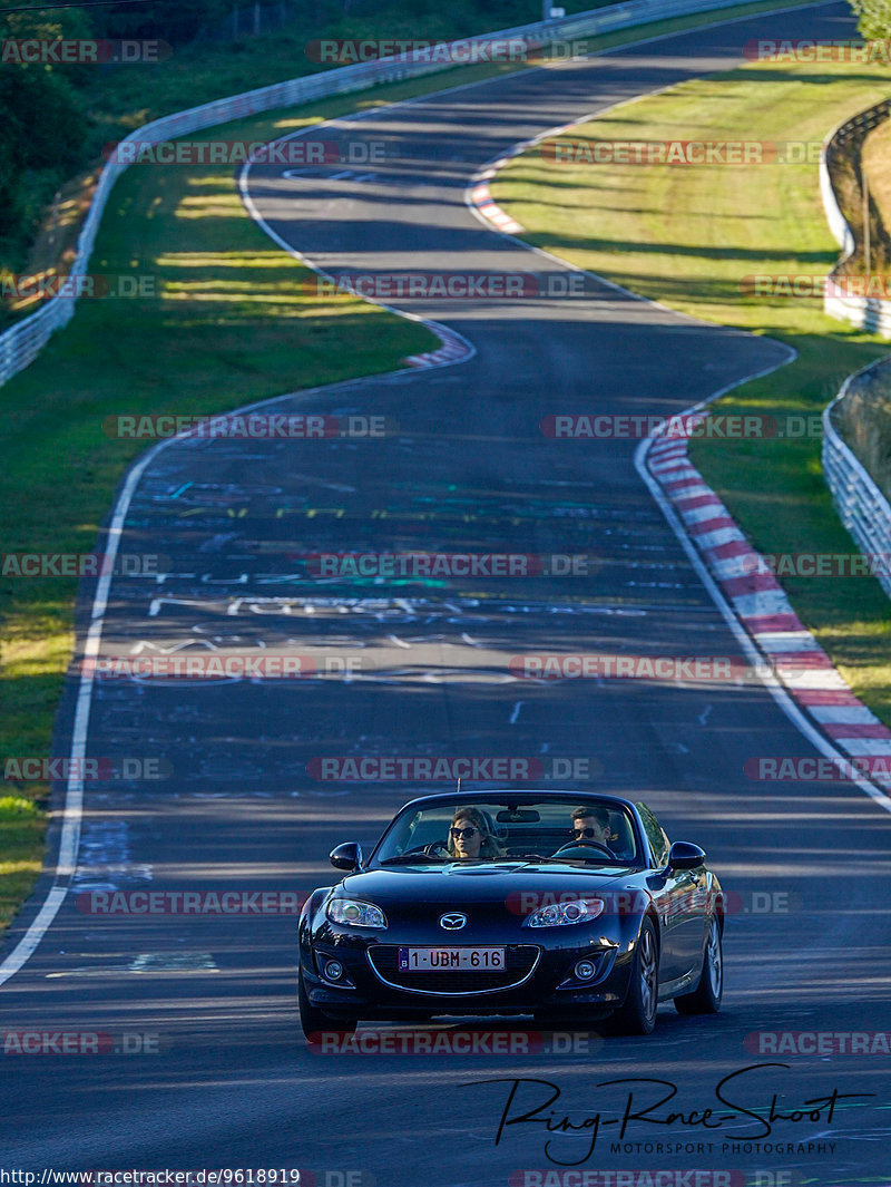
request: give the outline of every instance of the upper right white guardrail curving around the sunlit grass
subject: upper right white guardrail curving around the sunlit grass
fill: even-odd
[[[854,234],[847,224],[845,215],[841,212],[835,189],[832,184],[832,157],[833,152],[854,135],[871,132],[872,128],[883,123],[891,114],[891,100],[883,100],[874,107],[859,112],[852,119],[840,123],[823,141],[820,153],[820,195],[823,199],[826,220],[829,223],[835,242],[841,248],[841,259],[827,277],[826,293],[823,294],[823,311],[829,317],[835,317],[840,322],[851,322],[863,330],[871,330],[880,334],[885,338],[891,338],[891,301],[882,300],[877,297],[858,297],[853,293],[839,293],[833,288],[832,281],[839,271],[851,259],[857,248]]]

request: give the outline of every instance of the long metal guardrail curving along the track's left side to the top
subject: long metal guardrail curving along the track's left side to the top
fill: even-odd
[[[609,33],[634,25],[645,25],[670,17],[682,17],[695,12],[712,12],[738,5],[739,0],[626,0],[624,4],[611,5],[609,8],[596,8],[575,13],[568,18],[537,21],[533,25],[521,25],[516,28],[484,33],[480,37],[460,38],[451,42],[454,57],[462,46],[486,45],[491,42],[523,40],[529,49],[537,49],[550,42],[573,42],[586,36]],[[215,100],[201,107],[191,107],[185,112],[153,120],[136,128],[125,138],[125,141],[158,142],[187,135],[202,128],[210,128],[230,120],[256,115],[260,112],[279,107],[294,107],[329,95],[341,95],[363,90],[378,83],[399,82],[437,70],[446,70],[450,62],[425,62],[414,52],[380,58],[376,62],[362,62],[356,65],[339,66],[322,74],[304,78],[289,78],[249,90],[242,95]],[[77,240],[77,255],[71,267],[71,275],[85,275],[90,253],[96,240],[96,233],[102,218],[106,202],[112,188],[127,165],[121,161],[108,161],[100,176],[98,185],[90,205],[90,211]],[[39,354],[50,335],[65,325],[74,316],[74,298],[50,298],[38,312],[23,318],[0,335],[0,383],[5,383]]]

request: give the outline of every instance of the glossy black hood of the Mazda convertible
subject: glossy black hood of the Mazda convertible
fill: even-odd
[[[619,889],[624,882],[641,870],[632,867],[588,867],[560,863],[536,864],[534,862],[494,862],[467,865],[463,862],[446,862],[441,867],[418,869],[396,865],[386,870],[367,870],[349,874],[341,883],[344,896],[370,900],[371,902],[411,901],[414,903],[484,903],[504,902],[511,891],[536,890],[539,893],[597,894],[600,888]],[[333,888],[337,890],[338,888]]]

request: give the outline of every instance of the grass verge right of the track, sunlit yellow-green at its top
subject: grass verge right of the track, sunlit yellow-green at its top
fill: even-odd
[[[757,137],[809,144],[809,163],[603,167],[555,164],[536,148],[498,173],[492,196],[529,242],[643,297],[797,350],[794,363],[737,388],[714,411],[812,415],[887,344],[826,317],[819,297],[757,297],[744,278],[829,271],[838,248],[820,201],[816,150],[833,125],[886,87],[880,65],[852,72],[842,64],[752,63],[624,104],[571,138]],[[762,552],[854,551],[822,478],[819,439],[701,439],[690,455]],[[790,577],[783,585],[858,696],[891,725],[891,608],[878,582]]]

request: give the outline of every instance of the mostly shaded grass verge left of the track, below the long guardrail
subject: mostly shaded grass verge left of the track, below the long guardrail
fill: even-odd
[[[751,4],[721,19],[769,11]],[[680,31],[714,14],[660,21],[592,40],[610,47]],[[332,97],[206,137],[272,139],[300,126],[507,70],[479,65]],[[147,118],[142,113],[136,122]],[[191,137],[190,139],[197,139]],[[133,166],[107,207],[95,273],[153,277],[159,296],[81,301],[27,370],[0,388],[0,539],[5,553],[84,553],[141,445],[102,432],[126,413],[222,412],[326,382],[382,373],[428,349],[415,323],[349,298],[301,296],[307,269],[248,218],[225,166]],[[74,649],[74,577],[0,577],[0,762],[49,757]],[[0,805],[0,931],[43,862],[49,786],[12,785]],[[14,801],[14,802],[13,802]],[[23,807],[23,804],[27,807]]]

